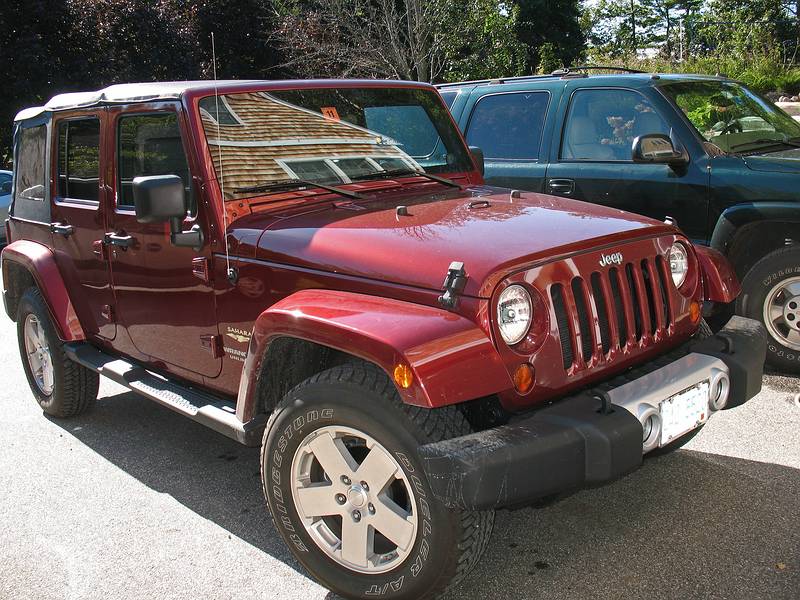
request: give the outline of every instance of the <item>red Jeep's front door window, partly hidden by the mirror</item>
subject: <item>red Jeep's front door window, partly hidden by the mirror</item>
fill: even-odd
[[[117,205],[133,206],[133,179],[148,175],[178,175],[194,214],[191,178],[175,113],[121,117],[117,132]]]

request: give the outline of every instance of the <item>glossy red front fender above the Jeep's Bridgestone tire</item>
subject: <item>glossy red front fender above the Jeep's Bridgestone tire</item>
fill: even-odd
[[[400,300],[334,290],[303,290],[256,319],[239,387],[240,406],[252,407],[269,344],[295,337],[375,363],[390,379],[411,367],[403,402],[438,407],[488,396],[513,386],[486,333],[451,312]]]

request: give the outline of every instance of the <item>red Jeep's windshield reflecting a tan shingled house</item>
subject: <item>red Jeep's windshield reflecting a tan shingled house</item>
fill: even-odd
[[[207,96],[199,107],[226,200],[262,195],[287,179],[340,185],[383,172],[472,169],[429,90],[271,90]]]

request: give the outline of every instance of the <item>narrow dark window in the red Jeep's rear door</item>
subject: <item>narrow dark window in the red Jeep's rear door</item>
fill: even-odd
[[[58,126],[58,195],[97,202],[100,192],[100,120]]]

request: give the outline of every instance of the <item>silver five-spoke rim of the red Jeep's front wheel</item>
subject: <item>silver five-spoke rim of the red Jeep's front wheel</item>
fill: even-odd
[[[311,539],[347,569],[383,573],[414,547],[411,483],[391,453],[361,431],[330,426],[308,435],[292,460],[292,498]]]

